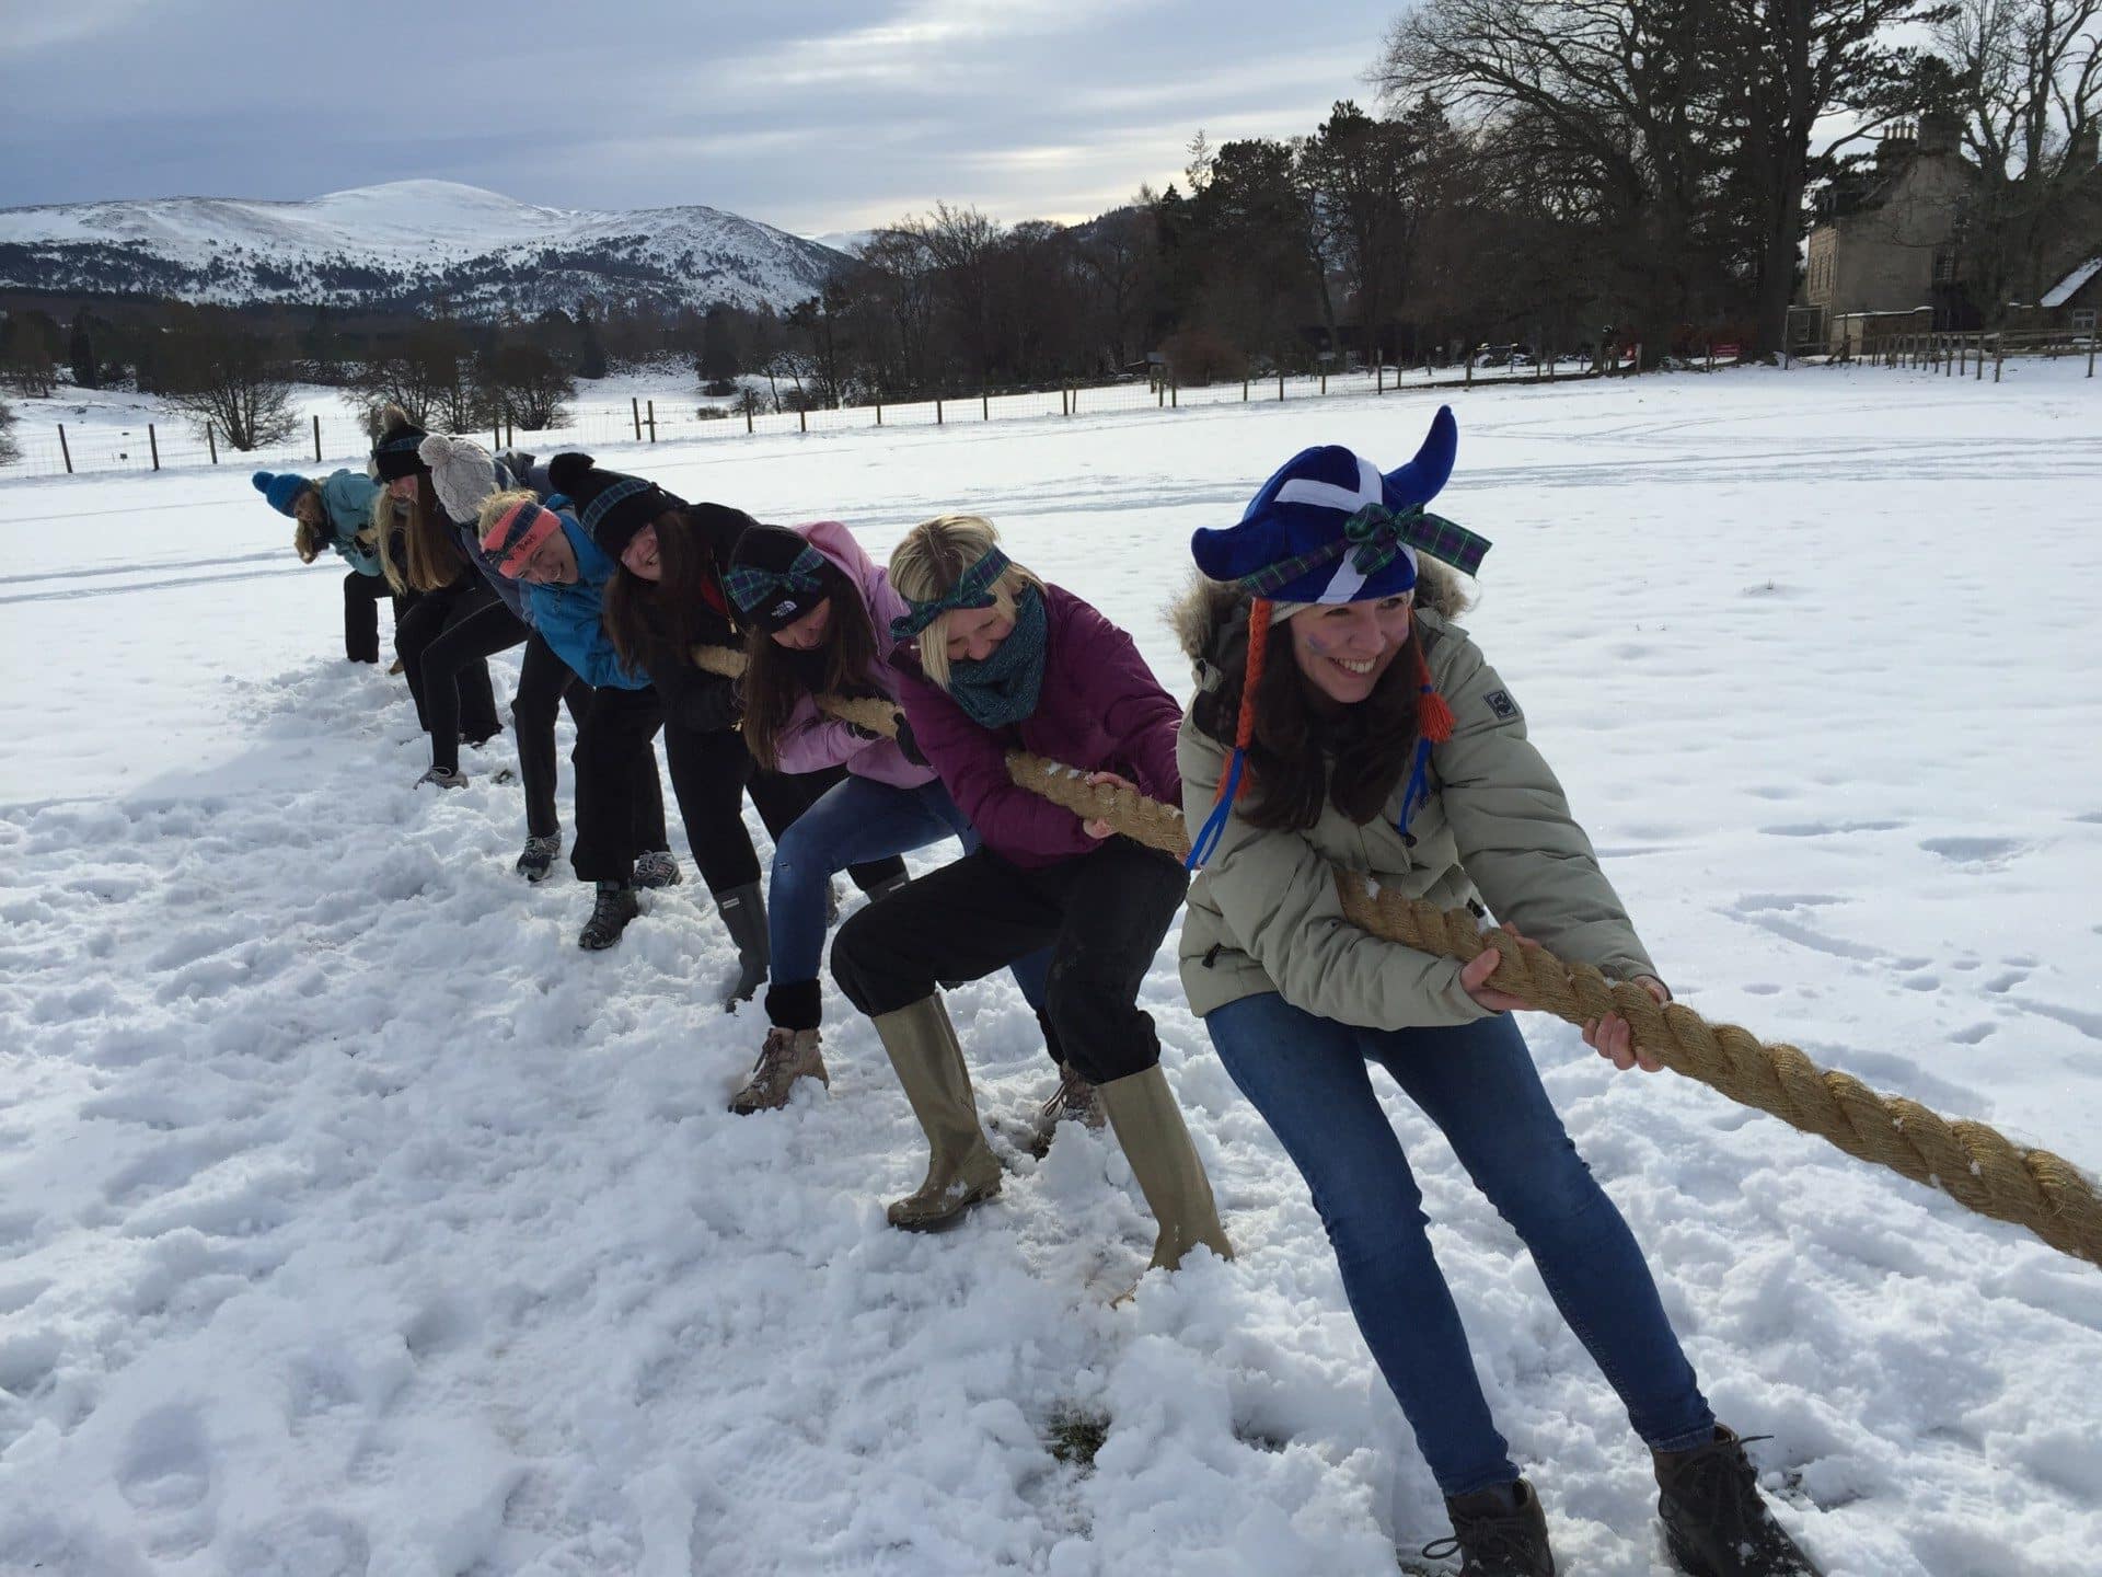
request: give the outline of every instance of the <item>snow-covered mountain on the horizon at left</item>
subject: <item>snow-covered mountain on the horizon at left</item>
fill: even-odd
[[[309,202],[164,198],[0,208],[0,288],[320,301],[462,315],[788,307],[845,257],[717,208],[536,208],[454,181],[393,181]]]

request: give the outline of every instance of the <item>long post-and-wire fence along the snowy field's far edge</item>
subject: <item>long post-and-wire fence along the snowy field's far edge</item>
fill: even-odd
[[[526,431],[498,427],[488,433],[496,448],[523,448],[538,456],[563,448],[614,444],[725,444],[744,437],[778,433],[837,433],[849,429],[893,427],[956,427],[992,421],[1043,421],[1074,416],[1110,416],[1169,412],[1200,406],[1257,402],[1295,402],[1322,397],[1387,395],[1417,389],[1492,389],[1513,385],[1566,383],[1602,378],[1640,370],[1640,353],[1627,360],[1595,364],[1562,357],[1560,362],[1520,362],[1516,366],[1375,366],[1349,372],[1272,374],[1268,378],[1236,378],[1230,383],[1177,385],[1171,381],[1116,381],[1032,389],[1022,393],[952,393],[933,400],[870,402],[866,406],[824,406],[809,410],[740,410],[713,404],[698,391],[666,391],[635,395],[626,404],[570,402],[561,427]],[[259,450],[238,452],[223,437],[200,431],[174,416],[147,421],[145,412],[132,425],[101,421],[95,425],[40,425],[21,421],[17,408],[15,446],[21,458],[0,465],[0,477],[95,475],[109,471],[193,471],[229,465],[238,469],[298,471],[322,465],[362,465],[372,448],[362,421],[349,410],[336,416],[313,414],[298,433]]]

